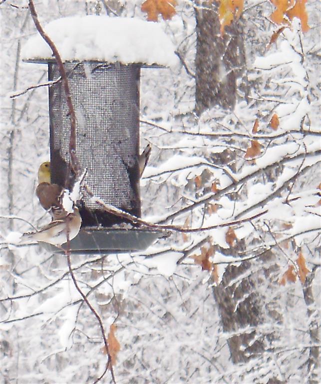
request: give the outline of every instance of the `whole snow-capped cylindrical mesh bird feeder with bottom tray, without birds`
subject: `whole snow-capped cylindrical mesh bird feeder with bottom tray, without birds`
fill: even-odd
[[[44,29],[66,69],[76,115],[76,155],[81,168],[87,169],[87,185],[107,204],[140,217],[140,70],[175,64],[173,44],[159,24],[134,18],[65,17]],[[22,57],[46,63],[50,81],[60,77],[39,34],[27,41]],[[65,185],[70,116],[61,81],[49,87],[49,125],[51,182]],[[124,219],[101,209],[87,194],[78,207],[82,226],[70,242],[73,253],[143,250],[167,235],[128,224],[121,227]]]

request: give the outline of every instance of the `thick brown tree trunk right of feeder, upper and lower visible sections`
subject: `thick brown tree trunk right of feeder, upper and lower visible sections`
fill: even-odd
[[[237,98],[237,78],[246,66],[242,22],[233,21],[225,27],[222,37],[218,4],[213,3],[212,9],[208,9],[198,1],[196,32],[196,113],[200,115],[215,105],[233,109]],[[234,152],[227,149],[211,158],[216,164],[226,165],[234,157]],[[237,256],[244,247],[244,242],[238,241],[233,248],[220,251]],[[232,333],[228,346],[234,363],[248,361],[254,353],[265,350],[264,335],[256,330],[265,319],[264,298],[257,289],[262,276],[249,273],[254,263],[246,261],[239,266],[228,265],[222,282],[213,287],[223,329]]]

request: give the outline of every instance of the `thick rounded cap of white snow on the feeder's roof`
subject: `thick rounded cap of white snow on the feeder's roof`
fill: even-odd
[[[62,61],[105,61],[170,66],[177,63],[175,48],[160,24],[138,18],[109,16],[63,17],[49,22],[45,32]],[[51,49],[37,32],[22,52],[24,61],[47,62]]]

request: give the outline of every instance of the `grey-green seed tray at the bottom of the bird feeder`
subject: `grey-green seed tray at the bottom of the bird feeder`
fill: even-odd
[[[157,238],[170,235],[166,230],[139,228],[101,228],[80,229],[78,235],[70,241],[73,254],[109,254],[145,250]],[[63,251],[54,245],[41,243],[44,248],[54,253]],[[66,244],[62,247],[66,249]]]

